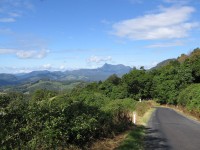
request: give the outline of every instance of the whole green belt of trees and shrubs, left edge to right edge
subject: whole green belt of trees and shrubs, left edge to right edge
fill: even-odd
[[[2,149],[87,147],[131,125],[130,112],[150,107],[138,100],[200,113],[200,49],[153,70],[133,69],[121,78],[79,84],[70,92],[36,90],[0,95]],[[141,108],[141,106],[140,106]]]

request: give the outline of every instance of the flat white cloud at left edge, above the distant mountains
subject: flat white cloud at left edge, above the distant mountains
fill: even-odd
[[[0,48],[0,54],[14,54],[21,59],[29,59],[29,58],[41,59],[44,58],[48,53],[49,50],[46,49],[36,51],[36,50],[18,50],[18,49]]]

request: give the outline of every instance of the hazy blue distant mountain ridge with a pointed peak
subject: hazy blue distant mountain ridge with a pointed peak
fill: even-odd
[[[122,76],[128,73],[132,68],[129,66],[104,64],[96,69],[79,69],[72,71],[32,71],[23,74],[0,74],[0,86],[16,85],[26,82],[35,82],[38,80],[53,80],[53,81],[100,81],[107,79],[110,75],[116,74]]]

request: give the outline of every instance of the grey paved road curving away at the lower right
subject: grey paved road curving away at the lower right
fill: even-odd
[[[149,121],[145,149],[200,150],[200,123],[159,107]]]

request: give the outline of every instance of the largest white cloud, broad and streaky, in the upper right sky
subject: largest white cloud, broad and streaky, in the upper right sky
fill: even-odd
[[[183,38],[199,25],[197,22],[189,22],[194,11],[189,6],[160,8],[159,13],[115,23],[113,34],[132,40]]]

